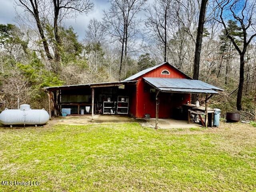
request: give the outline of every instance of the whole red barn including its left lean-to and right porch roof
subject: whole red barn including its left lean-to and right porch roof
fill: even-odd
[[[130,114],[135,118],[173,118],[176,109],[190,103],[191,94],[206,94],[206,101],[222,89],[193,80],[168,62],[142,70],[120,82],[45,87],[54,114],[69,109],[78,115]],[[87,108],[86,108],[87,107]],[[90,108],[90,110],[87,110]],[[158,114],[158,116],[157,116]]]

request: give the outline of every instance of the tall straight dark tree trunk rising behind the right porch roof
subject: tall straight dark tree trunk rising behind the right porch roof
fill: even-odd
[[[206,4],[208,0],[202,0],[199,20],[198,20],[198,29],[197,29],[197,36],[196,36],[196,49],[195,49],[195,56],[194,56],[194,73],[193,79],[198,80],[199,78],[199,64],[200,64],[200,54],[201,54],[201,46],[202,46],[202,38],[203,38],[203,31],[204,31],[204,17],[206,11]],[[196,102],[196,95],[192,94],[192,103]]]

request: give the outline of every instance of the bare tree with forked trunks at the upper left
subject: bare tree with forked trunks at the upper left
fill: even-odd
[[[42,39],[44,50],[52,69],[58,73],[60,62],[61,38],[58,32],[60,22],[65,18],[74,18],[76,13],[88,13],[94,7],[90,0],[16,0],[16,5],[22,7],[36,22],[38,32]],[[46,10],[52,10],[52,14],[44,14]],[[54,57],[50,53],[49,43],[45,35],[45,23],[52,20],[54,27]],[[51,24],[50,24],[51,25]],[[55,60],[53,61],[53,58]]]

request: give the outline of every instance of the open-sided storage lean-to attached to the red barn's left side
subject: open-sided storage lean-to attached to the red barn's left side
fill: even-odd
[[[131,94],[136,92],[136,83],[137,81],[127,81],[64,85],[44,87],[43,90],[48,94],[50,118],[53,104],[55,116],[61,115],[62,108],[66,107],[73,109],[73,114],[71,115],[81,115],[80,110],[90,106],[89,114],[92,115],[93,119],[94,114],[97,113],[98,103],[106,102],[108,98],[111,99],[111,102],[114,102],[119,95],[131,98]]]

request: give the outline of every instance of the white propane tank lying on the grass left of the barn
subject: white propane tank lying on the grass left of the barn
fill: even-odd
[[[30,109],[30,105],[22,104],[20,109],[5,109],[0,113],[0,123],[4,125],[43,125],[50,116],[44,109]]]

